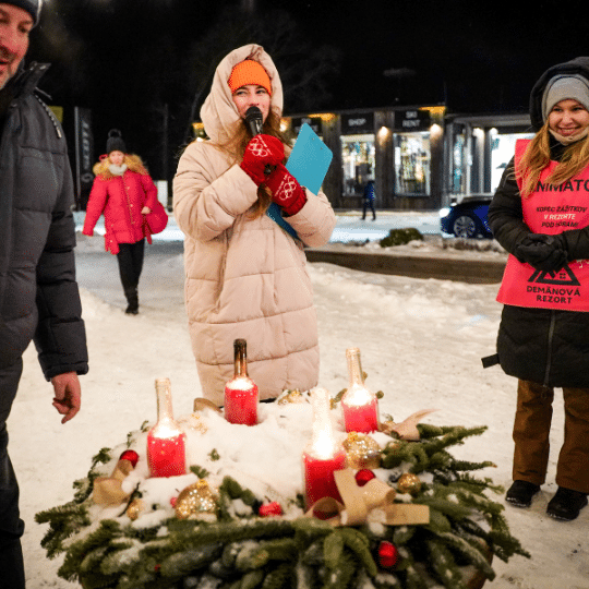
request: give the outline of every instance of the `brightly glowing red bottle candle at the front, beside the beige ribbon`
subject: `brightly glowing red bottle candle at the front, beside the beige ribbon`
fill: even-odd
[[[346,468],[346,453],[334,436],[329,416],[329,394],[325,388],[316,388],[312,398],[313,435],[302,455],[308,509],[323,497],[341,501],[334,472]]]

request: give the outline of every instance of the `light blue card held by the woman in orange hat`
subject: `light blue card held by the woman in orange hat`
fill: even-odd
[[[308,123],[301,125],[294,147],[286,164],[299,184],[316,194],[332,163],[332,151]]]

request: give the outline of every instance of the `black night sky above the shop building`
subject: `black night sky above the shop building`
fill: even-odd
[[[53,57],[45,56],[39,49],[43,35],[37,29],[34,37],[39,39],[36,43],[40,53],[35,55],[34,38],[28,59],[53,62],[43,89],[56,97],[56,104],[70,100],[92,108],[98,149],[108,129],[121,128],[132,147],[153,166],[161,167],[166,167],[165,161],[160,163],[165,134],[157,108],[164,103],[170,106],[169,123],[173,128],[169,130],[168,151],[176,152],[189,130],[190,108],[185,105],[190,106],[195,92],[189,88],[202,86],[209,74],[203,74],[201,68],[202,80],[189,73],[192,84],[164,80],[156,87],[157,76],[171,80],[173,76],[167,74],[173,71],[183,76],[189,62],[184,59],[182,63],[187,52],[168,55],[159,39],[167,35],[176,50],[190,48],[212,33],[217,34],[217,39],[226,35],[227,40],[229,28],[224,21],[219,22],[227,10],[235,9],[241,19],[240,9],[253,7],[256,19],[268,31],[276,26],[274,11],[284,11],[315,52],[325,45],[340,51],[339,71],[326,79],[330,97],[318,104],[316,94],[305,94],[313,106],[303,108],[313,110],[445,103],[449,112],[524,112],[530,89],[542,72],[555,63],[589,55],[589,2],[578,0],[538,0],[533,10],[528,2],[517,0],[75,0],[75,4],[73,0],[51,1],[67,7],[68,10],[61,9],[67,13],[64,22],[76,27],[80,46],[99,49],[94,55],[80,51],[80,63],[67,70],[67,39],[58,44]],[[89,32],[98,32],[99,37],[93,40]],[[250,41],[260,43],[256,38]],[[241,43],[237,40],[235,45],[228,44],[233,48],[238,45]],[[213,43],[213,47],[218,44]],[[276,62],[280,71],[280,63]],[[147,75],[131,81],[124,68]],[[81,77],[86,76],[86,86],[76,86],[72,72],[79,70]],[[390,70],[410,71],[412,75],[385,76],[384,72]],[[152,76],[149,82],[148,75],[153,73],[156,77]],[[109,82],[105,82],[107,79]],[[85,94],[76,94],[77,87],[86,87]],[[292,94],[289,101],[288,86],[285,91],[286,115],[309,112],[297,107]],[[127,110],[121,108],[123,103]],[[172,169],[175,161],[171,155],[168,157],[168,169]]]

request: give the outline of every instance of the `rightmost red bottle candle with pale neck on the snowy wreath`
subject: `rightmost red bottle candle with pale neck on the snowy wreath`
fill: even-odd
[[[348,373],[350,385],[341,397],[341,410],[347,432],[370,433],[378,430],[378,401],[376,395],[364,386],[360,363],[360,350],[348,348]]]

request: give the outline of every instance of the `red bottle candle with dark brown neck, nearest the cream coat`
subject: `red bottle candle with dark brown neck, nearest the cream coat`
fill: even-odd
[[[233,341],[235,376],[225,385],[225,419],[229,423],[257,423],[259,392],[248,376],[248,356],[244,339]]]

